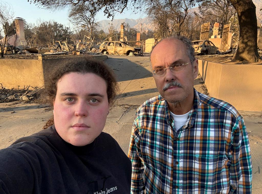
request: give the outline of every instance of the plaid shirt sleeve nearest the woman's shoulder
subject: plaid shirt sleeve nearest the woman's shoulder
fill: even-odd
[[[144,162],[140,155],[140,132],[139,132],[139,111],[136,114],[132,134],[130,138],[130,145],[128,157],[132,162],[132,179],[131,179],[131,193],[144,193]]]

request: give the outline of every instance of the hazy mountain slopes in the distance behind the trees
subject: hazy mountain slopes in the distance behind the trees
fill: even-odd
[[[256,6],[256,17],[257,17],[257,20],[258,20],[258,24],[261,24],[262,23],[262,11],[260,11],[260,9],[262,8],[262,1],[261,0],[253,0],[253,3]],[[189,11],[189,14],[193,14],[194,11],[198,12],[198,7],[190,9],[188,11]],[[113,21],[111,21],[111,20],[99,21],[100,26],[101,26],[100,28],[103,29],[104,32],[108,32],[108,26],[111,25],[111,23],[113,23],[114,27],[118,31],[120,31],[120,25],[123,22],[128,23],[130,25],[130,27],[138,29],[138,31],[140,31],[141,24],[143,24],[143,27],[142,27],[143,30],[154,30],[155,29],[154,24],[151,23],[151,21],[148,19],[148,17],[140,18],[140,19],[137,19],[137,20],[125,18],[125,19],[116,19],[116,20],[113,20]]]

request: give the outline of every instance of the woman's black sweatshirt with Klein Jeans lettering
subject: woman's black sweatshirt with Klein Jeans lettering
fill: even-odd
[[[77,147],[51,126],[0,150],[0,193],[129,194],[131,162],[102,132]]]

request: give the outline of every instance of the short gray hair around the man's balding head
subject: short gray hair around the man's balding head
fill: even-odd
[[[174,39],[174,38],[181,40],[185,44],[185,47],[187,48],[187,56],[189,57],[190,61],[193,62],[195,60],[195,49],[193,48],[193,44],[192,44],[191,40],[189,38],[185,37],[185,36],[176,35],[176,36],[171,36],[171,37],[168,37],[168,38],[163,38],[158,43],[156,43],[156,45],[159,44],[163,40],[171,40],[171,39]],[[155,48],[155,46],[152,48],[152,51]],[[151,51],[151,53],[152,53],[152,51]],[[151,63],[151,53],[150,53],[150,63]]]

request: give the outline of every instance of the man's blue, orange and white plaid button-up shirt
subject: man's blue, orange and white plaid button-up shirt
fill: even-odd
[[[196,90],[186,124],[177,132],[163,97],[142,104],[128,156],[131,193],[251,193],[243,118],[230,104]]]

